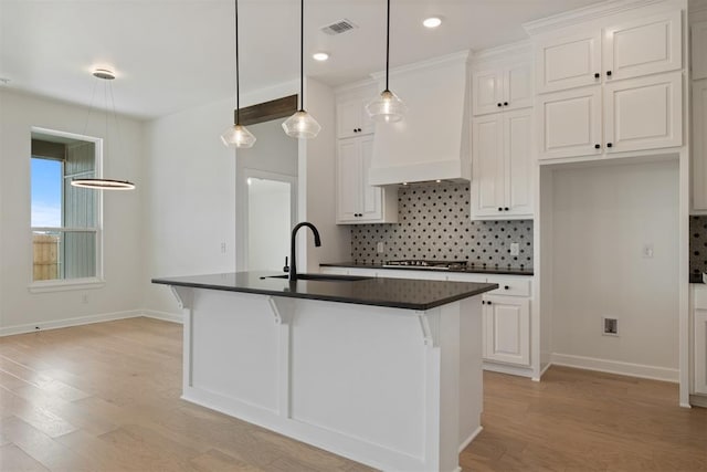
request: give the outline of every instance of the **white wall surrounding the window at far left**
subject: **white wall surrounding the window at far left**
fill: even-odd
[[[141,306],[140,284],[144,281],[136,275],[141,273],[144,255],[143,124],[123,117],[119,118],[122,139],[117,147],[117,130],[108,129],[110,136],[106,140],[108,153],[104,158],[103,175],[127,177],[136,182],[137,190],[104,192],[105,286],[52,293],[30,293],[28,290],[32,280],[31,127],[105,137],[104,122],[92,120],[86,127],[87,114],[85,107],[0,91],[0,334],[123,316]]]

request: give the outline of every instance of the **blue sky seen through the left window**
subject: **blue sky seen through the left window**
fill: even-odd
[[[62,162],[32,158],[32,227],[62,225]]]

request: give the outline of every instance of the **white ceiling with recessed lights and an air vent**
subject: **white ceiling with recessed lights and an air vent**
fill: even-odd
[[[391,67],[526,38],[521,24],[598,0],[392,0]],[[299,2],[240,0],[241,94],[298,78]],[[428,30],[421,21],[441,15]],[[340,19],[359,28],[329,36]],[[233,96],[233,0],[0,0],[4,87],[87,105],[116,72],[118,113],[154,118]],[[384,0],[306,0],[305,73],[331,86],[384,69]],[[315,50],[331,57],[310,59]]]

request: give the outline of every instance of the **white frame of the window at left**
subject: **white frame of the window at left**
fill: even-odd
[[[101,178],[103,176],[103,138],[97,138],[94,136],[78,135],[75,133],[67,132],[59,132],[55,129],[42,128],[32,126],[30,136],[33,133],[40,133],[44,135],[65,137],[70,139],[83,140],[87,143],[93,143],[95,146],[95,175]],[[28,165],[31,162],[31,153],[30,159],[28,160]],[[63,176],[63,172],[62,172]],[[62,181],[62,192],[63,192],[63,181]],[[30,186],[28,186],[30,187]],[[30,189],[31,191],[31,189]],[[62,231],[95,231],[96,233],[96,275],[93,277],[82,277],[82,279],[55,279],[51,281],[34,281],[33,280],[33,271],[30,271],[30,280],[28,283],[28,289],[31,293],[44,293],[44,292],[63,292],[63,291],[72,291],[72,290],[87,290],[87,289],[101,289],[105,286],[105,280],[103,275],[103,192],[99,190],[95,190],[98,192],[96,196],[96,227],[87,229],[87,228],[39,228],[32,227],[30,222],[30,231],[29,231],[29,241],[32,241],[32,235],[34,231],[42,230],[52,230],[56,231],[57,229]],[[32,201],[32,197],[30,193],[30,202]],[[63,199],[62,199],[63,200]],[[63,201],[62,201],[63,204]],[[31,203],[30,203],[31,208]],[[29,255],[28,261],[30,261],[30,266],[32,265],[32,245],[29,245]]]

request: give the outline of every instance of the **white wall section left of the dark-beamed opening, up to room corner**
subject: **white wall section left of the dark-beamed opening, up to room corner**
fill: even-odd
[[[235,269],[235,150],[219,138],[232,120],[228,98],[146,126],[143,282],[151,314],[179,311],[169,289],[150,279]]]

